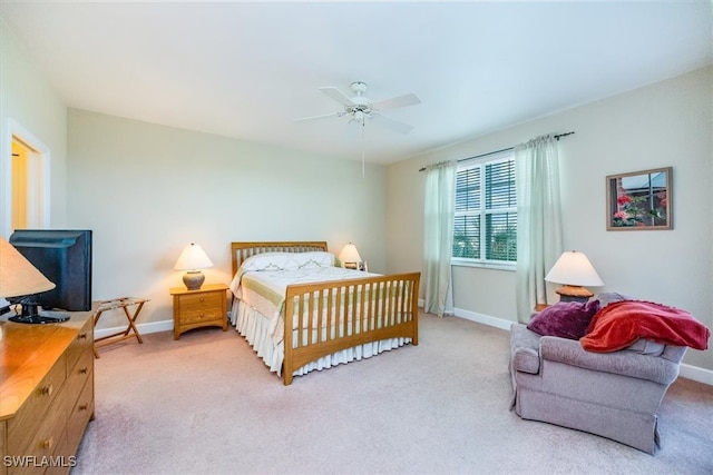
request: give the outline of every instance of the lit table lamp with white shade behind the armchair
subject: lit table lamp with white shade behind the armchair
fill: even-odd
[[[600,287],[604,285],[587,256],[576,250],[563,253],[545,276],[545,280],[563,284],[555,290],[559,294],[559,301],[587,301],[594,294],[584,286]]]

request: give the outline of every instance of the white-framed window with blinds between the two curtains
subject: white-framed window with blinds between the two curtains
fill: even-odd
[[[515,156],[511,150],[459,166],[452,257],[484,265],[517,261]]]

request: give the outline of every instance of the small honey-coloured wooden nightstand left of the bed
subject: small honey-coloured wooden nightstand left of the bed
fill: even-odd
[[[193,328],[222,327],[227,331],[226,290],[225,284],[206,284],[198,290],[173,287],[174,339]]]

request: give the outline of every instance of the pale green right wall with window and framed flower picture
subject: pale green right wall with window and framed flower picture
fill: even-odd
[[[549,132],[560,140],[565,248],[587,254],[603,289],[684,308],[713,328],[713,67],[561,111],[387,171],[389,271],[422,264],[424,165],[511,147]],[[606,230],[605,177],[673,167],[674,229]],[[462,313],[516,320],[515,273],[453,267]],[[713,349],[685,362],[713,370]]]

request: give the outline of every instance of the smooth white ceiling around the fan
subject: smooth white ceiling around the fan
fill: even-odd
[[[713,62],[710,0],[668,2],[68,2],[0,14],[69,107],[388,164]],[[409,135],[346,118],[374,101]]]

